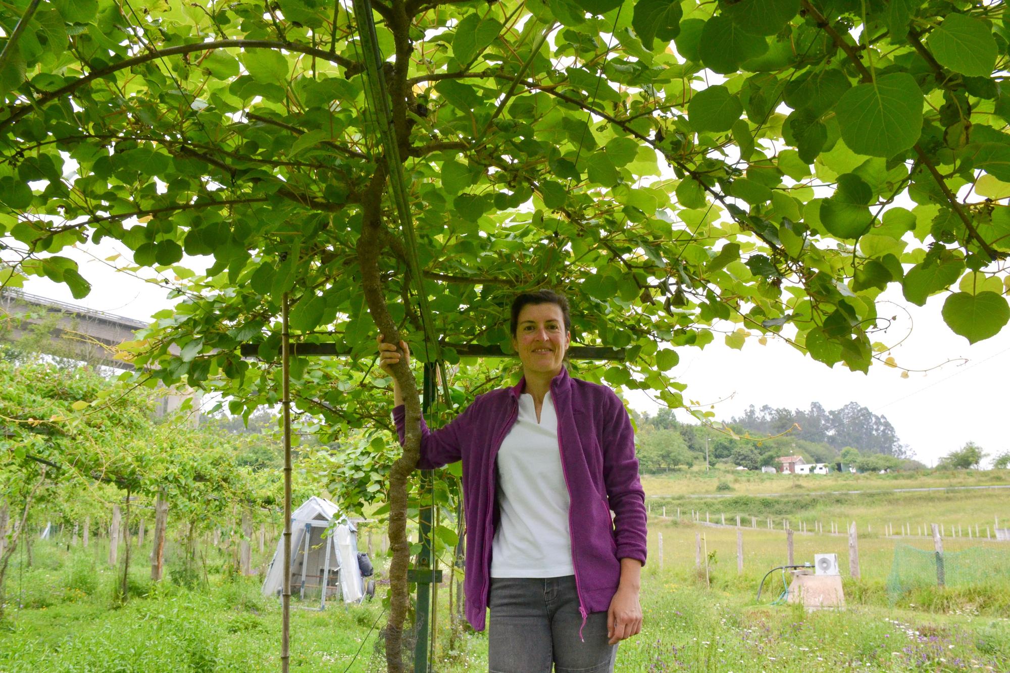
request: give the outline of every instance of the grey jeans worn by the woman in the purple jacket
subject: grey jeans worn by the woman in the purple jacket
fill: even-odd
[[[613,673],[617,646],[607,643],[607,613],[590,612],[582,629],[575,576],[491,578],[490,673]]]

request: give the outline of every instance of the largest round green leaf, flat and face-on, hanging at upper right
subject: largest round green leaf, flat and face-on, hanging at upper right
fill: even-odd
[[[868,157],[891,159],[922,132],[922,91],[911,75],[881,75],[846,91],[835,105],[845,145]]]

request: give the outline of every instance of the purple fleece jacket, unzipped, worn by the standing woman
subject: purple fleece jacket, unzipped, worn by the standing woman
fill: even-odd
[[[421,459],[430,470],[463,461],[467,519],[467,619],[484,631],[490,586],[491,541],[498,524],[495,458],[518,416],[525,379],[477,397],[444,427],[421,420]],[[564,367],[550,382],[558,414],[558,442],[571,506],[572,560],[584,623],[604,612],[617,591],[619,559],[645,564],[645,494],[627,411],[602,385],[574,379]],[[404,406],[393,409],[403,443]],[[611,519],[610,510],[614,511]]]

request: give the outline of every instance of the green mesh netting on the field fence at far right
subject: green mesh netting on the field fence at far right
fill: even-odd
[[[945,552],[942,561],[932,551],[896,545],[894,564],[887,580],[888,597],[894,603],[910,590],[936,586],[980,586],[1010,580],[1010,549],[973,547]],[[937,567],[939,566],[939,567]]]

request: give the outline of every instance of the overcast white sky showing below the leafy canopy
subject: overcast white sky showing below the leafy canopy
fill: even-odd
[[[117,273],[109,264],[100,261],[117,253],[127,253],[111,263],[122,266],[130,259],[128,252],[118,242],[108,238],[86,250],[61,252],[77,259],[81,273],[92,283],[91,294],[84,299],[74,299],[66,286],[46,279],[30,278],[24,290],[96,310],[149,320],[152,313],[171,305],[167,288]],[[183,262],[197,272],[202,272],[209,263],[209,258],[202,262],[193,258]],[[155,275],[149,270],[143,273]],[[907,305],[900,291],[889,290],[885,296],[900,302],[901,307],[881,304],[880,314],[895,315],[896,320],[887,331],[876,334],[874,341],[895,344],[912,326],[911,334],[891,355],[902,367],[935,369],[912,372],[903,379],[901,370],[875,363],[870,374],[865,375],[850,372],[840,364],[828,369],[771,336],[767,346],[761,346],[753,336],[747,340],[742,351],[734,351],[726,347],[721,334],[717,333],[716,340],[704,350],[678,349],[681,364],[674,374],[689,385],[686,399],[705,405],[715,403],[716,417],[721,419],[728,420],[750,404],[805,409],[812,401],[818,401],[825,408],[833,409],[855,401],[874,413],[886,415],[902,442],[927,465],[969,440],[977,442],[990,454],[1010,450],[1003,418],[1007,413],[1003,388],[1004,373],[1010,366],[1010,327],[990,340],[970,346],[943,323],[940,307],[944,295],[932,297],[922,308]],[[913,325],[910,325],[906,310],[914,320]],[[948,360],[953,362],[943,364]],[[639,411],[654,413],[658,408],[643,393],[633,391],[628,398]],[[685,411],[679,411],[678,415],[682,420],[693,422]]]

